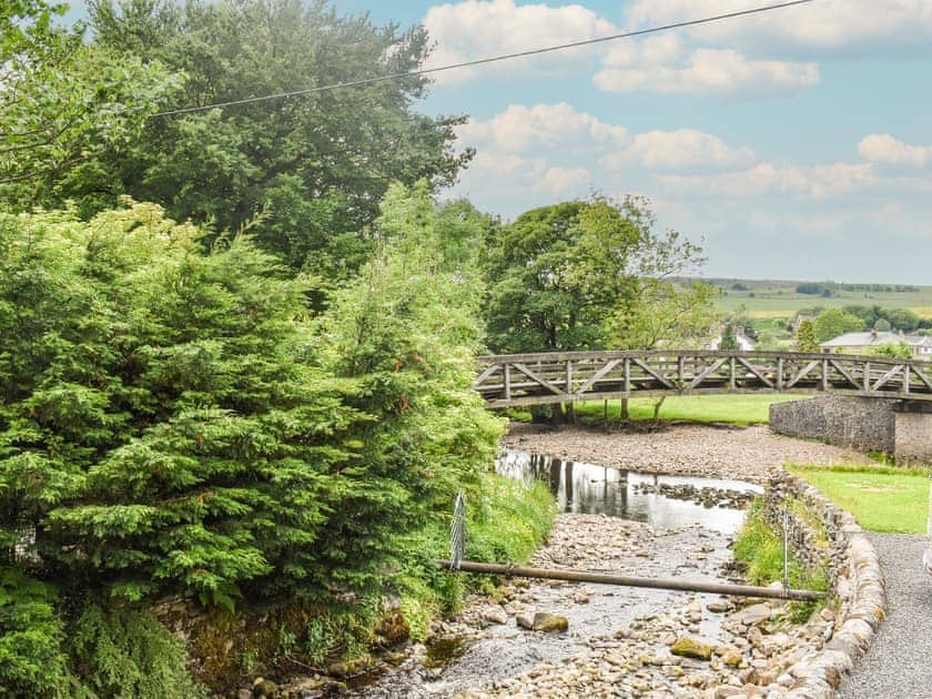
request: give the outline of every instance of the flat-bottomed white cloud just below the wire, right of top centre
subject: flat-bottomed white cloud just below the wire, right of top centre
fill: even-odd
[[[816,63],[748,59],[733,49],[691,50],[676,34],[621,43],[592,78],[611,92],[788,94],[819,83]]]

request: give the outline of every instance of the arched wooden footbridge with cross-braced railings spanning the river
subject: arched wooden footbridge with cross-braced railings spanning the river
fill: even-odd
[[[721,393],[932,402],[932,362],[796,352],[550,352],[477,357],[488,407]]]

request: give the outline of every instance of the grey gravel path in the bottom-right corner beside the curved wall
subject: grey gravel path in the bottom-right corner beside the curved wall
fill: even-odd
[[[842,699],[932,697],[932,577],[923,536],[868,534],[887,578],[889,612],[868,655],[841,686]]]

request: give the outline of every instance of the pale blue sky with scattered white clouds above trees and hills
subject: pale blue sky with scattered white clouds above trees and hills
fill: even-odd
[[[334,0],[424,24],[428,65],[773,0]],[[505,220],[594,192],[647,196],[707,276],[932,284],[932,0],[814,0],[440,73],[476,158],[445,197]]]

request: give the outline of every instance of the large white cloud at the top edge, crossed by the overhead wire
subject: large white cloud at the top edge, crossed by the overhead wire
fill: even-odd
[[[611,22],[581,4],[516,6],[515,0],[463,0],[435,6],[427,10],[423,24],[436,41],[427,68],[592,39],[617,31]],[[591,49],[559,51],[551,55],[447,71],[437,73],[436,78],[439,83],[452,84],[475,79],[489,69],[559,74],[592,54]]]

